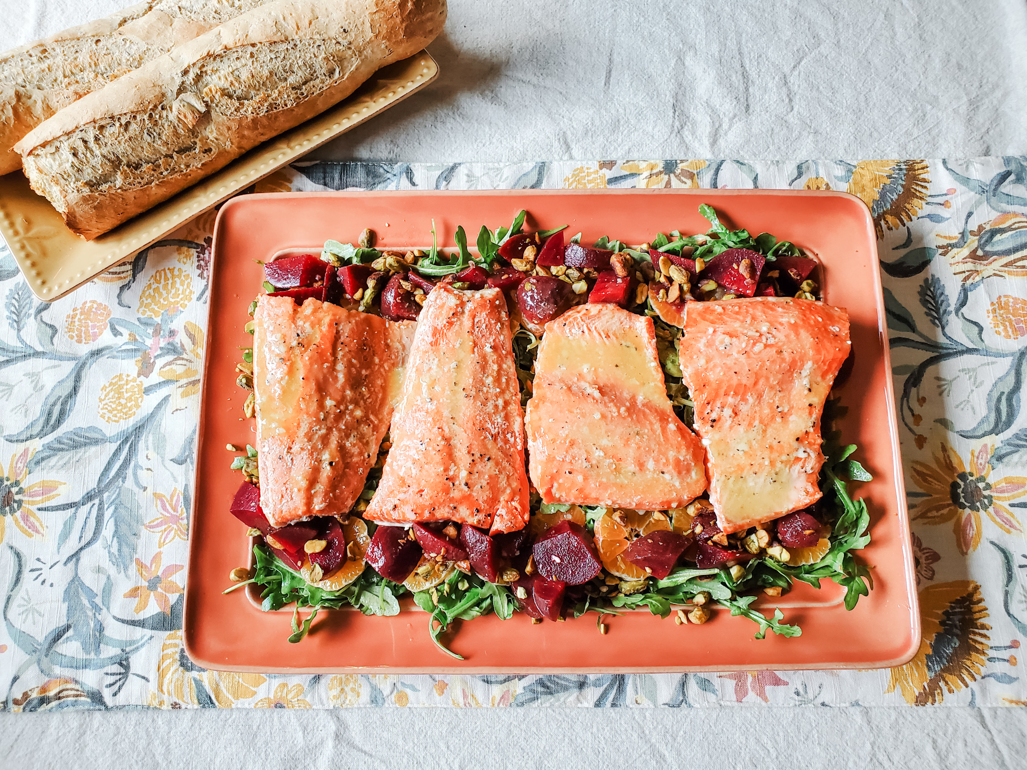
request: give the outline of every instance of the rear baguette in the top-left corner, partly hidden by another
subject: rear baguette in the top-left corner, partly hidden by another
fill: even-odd
[[[270,0],[150,0],[0,53],[0,175],[14,145],[63,107]]]

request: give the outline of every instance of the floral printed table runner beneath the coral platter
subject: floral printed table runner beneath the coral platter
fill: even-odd
[[[923,616],[909,664],[577,677],[194,665],[182,606],[212,213],[49,305],[0,251],[0,708],[1027,705],[1027,158],[314,163],[256,189],[538,187],[830,189],[867,203]]]

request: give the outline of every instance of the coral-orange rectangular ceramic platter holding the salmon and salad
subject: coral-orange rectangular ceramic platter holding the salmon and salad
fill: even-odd
[[[705,232],[699,203],[712,204],[735,227],[768,231],[815,254],[825,265],[824,293],[851,318],[854,368],[836,390],[848,413],[840,428],[857,442],[857,457],[874,480],[855,485],[867,500],[872,543],[861,552],[874,589],[847,612],[842,590],[830,581],[821,590],[799,584],[778,600],[761,598],[801,637],[768,634],[741,617],[717,610],[705,625],[677,625],[648,611],[607,617],[600,636],[594,617],[532,625],[527,616],[495,616],[457,623],[450,636],[458,661],[440,652],[428,634],[428,616],[407,602],[390,618],[354,610],[318,616],[307,639],[290,644],[292,612],[261,612],[244,591],[222,595],[228,573],[250,563],[250,541],[229,512],[241,476],[229,470],[226,444],[254,442],[252,421],[241,419],[248,391],[235,384],[248,307],[260,291],[255,260],[295,247],[320,248],[328,238],[355,241],[372,228],[378,247],[423,247],[434,219],[441,243],[452,246],[463,225],[509,223],[521,208],[530,229],[569,224],[583,242],[609,235],[629,243],[657,230]],[[575,672],[752,670],[760,668],[873,668],[906,662],[920,641],[913,557],[910,549],[885,337],[876,241],[866,206],[835,192],[771,190],[595,190],[501,192],[339,192],[248,195],[226,203],[218,216],[211,273],[211,320],[203,370],[203,401],[195,504],[185,605],[185,644],[198,664],[222,670],[333,672],[353,669],[438,672]],[[772,602],[772,604],[771,604]]]

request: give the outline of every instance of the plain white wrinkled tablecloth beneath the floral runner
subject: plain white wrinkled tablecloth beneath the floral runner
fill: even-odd
[[[0,49],[118,0],[4,0]],[[967,157],[1027,152],[1027,6],[452,2],[440,81],[317,154],[405,161]],[[1023,761],[1020,709],[56,714],[0,765],[597,767]],[[498,737],[496,737],[498,736]],[[484,759],[491,759],[491,763]]]

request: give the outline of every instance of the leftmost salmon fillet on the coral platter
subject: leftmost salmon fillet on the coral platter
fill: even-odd
[[[272,526],[352,508],[402,392],[415,326],[318,300],[257,301],[260,503]]]

